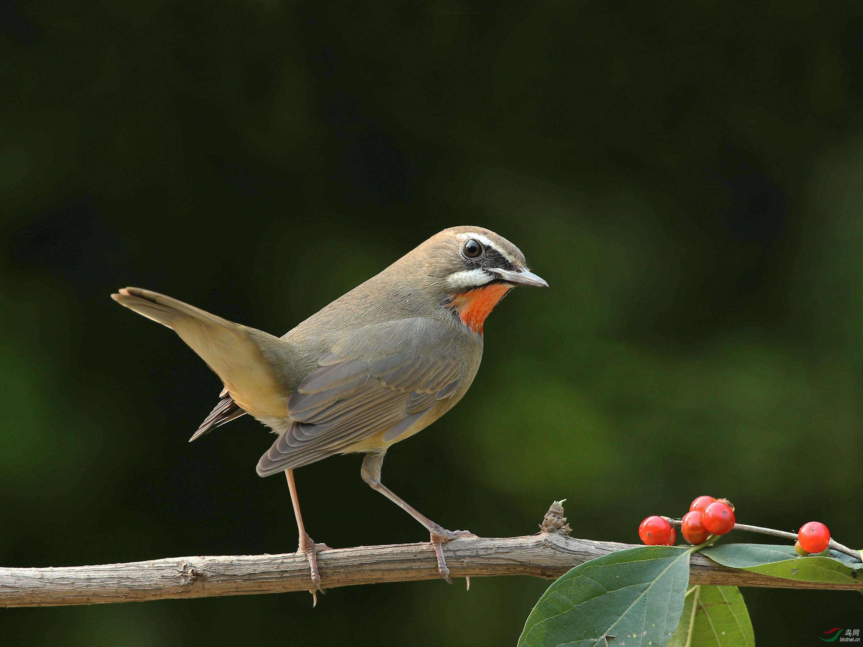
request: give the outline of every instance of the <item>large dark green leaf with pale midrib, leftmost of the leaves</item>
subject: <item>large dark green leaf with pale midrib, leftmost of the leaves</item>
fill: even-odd
[[[690,549],[618,550],[572,568],[527,618],[519,647],[663,647],[677,628]]]

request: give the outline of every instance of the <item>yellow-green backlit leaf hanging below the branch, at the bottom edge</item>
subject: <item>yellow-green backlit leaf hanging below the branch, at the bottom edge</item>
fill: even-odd
[[[754,647],[753,624],[737,587],[692,587],[668,647]]]

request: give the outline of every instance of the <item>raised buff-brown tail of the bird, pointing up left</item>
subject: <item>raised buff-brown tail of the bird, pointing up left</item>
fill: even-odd
[[[289,394],[276,380],[270,359],[284,346],[278,337],[139,287],[124,287],[111,298],[176,332],[244,411],[255,418],[286,415]]]

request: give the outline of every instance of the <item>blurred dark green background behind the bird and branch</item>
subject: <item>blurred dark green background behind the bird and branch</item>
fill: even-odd
[[[142,286],[281,335],[477,224],[551,284],[486,324],[384,481],[449,528],[576,537],[726,496],[863,545],[863,5],[275,0],[0,7],[0,563],[296,548],[249,418]],[[359,477],[297,474],[331,546],[421,541]],[[757,537],[738,537],[753,540]],[[19,645],[514,644],[547,582],[0,609]],[[759,645],[860,594],[745,591]],[[856,623],[856,624],[855,624]]]

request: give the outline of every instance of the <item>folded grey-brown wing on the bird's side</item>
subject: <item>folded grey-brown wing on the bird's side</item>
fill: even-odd
[[[287,401],[293,421],[258,462],[299,468],[385,431],[393,440],[455,392],[457,331],[425,317],[364,326],[318,360]]]

